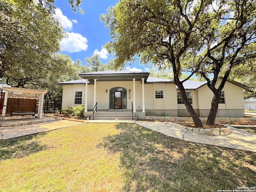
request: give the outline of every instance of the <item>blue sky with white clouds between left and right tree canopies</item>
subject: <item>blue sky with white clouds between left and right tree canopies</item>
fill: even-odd
[[[106,14],[110,6],[115,6],[118,0],[84,0],[81,8],[84,14],[74,13],[67,0],[56,0],[56,17],[62,23],[68,38],[62,40],[62,53],[68,54],[72,60],[81,60],[94,54],[100,54],[102,63],[107,63],[111,56],[103,46],[110,41],[109,28],[100,21],[100,15]],[[150,66],[138,63],[128,64],[125,70],[146,71]]]

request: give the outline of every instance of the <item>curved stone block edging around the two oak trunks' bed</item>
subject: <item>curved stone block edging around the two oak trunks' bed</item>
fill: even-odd
[[[226,135],[229,135],[231,133],[230,132],[230,127],[200,129],[200,128],[186,127],[184,125],[180,125],[180,124],[172,123],[172,122],[168,122],[168,123],[171,124],[173,127],[178,128],[180,130],[190,132],[190,133],[200,134],[200,135],[226,136]]]

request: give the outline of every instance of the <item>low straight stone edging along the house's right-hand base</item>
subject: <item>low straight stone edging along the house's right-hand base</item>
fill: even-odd
[[[146,119],[158,119],[158,120],[182,120],[182,121],[192,121],[191,117],[171,117],[171,116],[146,116]],[[200,117],[201,121],[206,121],[207,117]],[[256,117],[216,117],[215,121],[243,121],[243,120],[256,120]]]

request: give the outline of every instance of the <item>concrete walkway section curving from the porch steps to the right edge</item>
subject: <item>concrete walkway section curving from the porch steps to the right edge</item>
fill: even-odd
[[[173,128],[164,122],[136,121],[138,125],[155,130],[162,134],[182,139],[182,130]],[[231,134],[227,136],[207,136],[186,132],[184,140],[202,144],[228,147],[239,150],[256,152],[256,134],[230,126]]]

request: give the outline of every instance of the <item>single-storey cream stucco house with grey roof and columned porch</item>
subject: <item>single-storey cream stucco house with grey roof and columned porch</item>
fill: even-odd
[[[145,116],[189,116],[173,80],[150,77],[148,72],[101,71],[79,74],[83,79],[60,82],[63,86],[62,109],[85,104],[85,116],[98,110],[131,111]],[[219,83],[221,79],[218,80]],[[218,86],[218,84],[216,85]],[[187,96],[199,116],[206,117],[211,108],[212,91],[206,82],[184,82]],[[243,90],[235,81],[227,81],[220,98],[217,117],[244,117]]]

